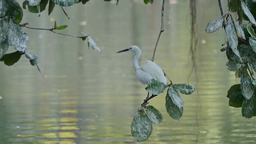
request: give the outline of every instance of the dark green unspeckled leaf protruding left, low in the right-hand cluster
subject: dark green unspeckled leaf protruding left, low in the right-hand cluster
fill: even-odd
[[[228,90],[227,97],[233,101],[243,101],[244,96],[242,95],[241,84],[235,84]]]

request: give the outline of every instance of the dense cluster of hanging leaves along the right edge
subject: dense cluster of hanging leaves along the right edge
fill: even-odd
[[[236,78],[241,78],[241,84],[231,86],[227,97],[229,106],[242,107],[242,116],[252,118],[256,116],[256,2],[254,0],[230,0],[228,5],[229,12],[238,15],[239,24],[229,12],[217,19],[223,20],[228,37],[227,46],[221,51],[226,50],[229,60],[226,64],[228,70],[235,72]],[[242,19],[248,22],[242,24]],[[211,25],[208,24],[206,32],[217,31],[222,22],[214,20],[210,23]]]

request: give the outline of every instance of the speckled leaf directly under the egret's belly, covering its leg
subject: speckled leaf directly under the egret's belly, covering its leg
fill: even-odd
[[[152,79],[148,82],[147,87],[145,89],[151,94],[158,95],[164,92],[165,88],[167,88],[167,86],[163,82],[159,82],[158,80]]]

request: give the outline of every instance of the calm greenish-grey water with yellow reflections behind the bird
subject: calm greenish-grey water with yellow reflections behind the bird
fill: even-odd
[[[23,0],[19,2],[22,5]],[[147,92],[136,80],[134,54],[116,52],[138,45],[144,62],[152,58],[162,1],[148,5],[142,2],[120,0],[116,6],[90,0],[85,5],[66,8],[70,20],[59,6],[55,6],[51,16],[48,8],[40,17],[24,10],[22,23],[51,28],[56,20],[58,25],[69,26],[62,33],[90,34],[101,51],[88,50],[86,41],[78,38],[25,29],[30,38],[28,49],[38,55],[46,77],[42,78],[25,56],[14,66],[0,63],[0,143],[136,143],[130,124]],[[224,30],[214,34],[204,30],[208,22],[219,16],[216,0],[198,0],[197,79],[194,72],[189,78],[189,1],[166,0],[165,30],[154,62],[172,82],[189,82],[196,86],[196,91],[182,95],[185,107],[180,121],[168,116],[166,93],[150,100],[164,120],[153,126],[144,144],[255,143],[255,118],[243,118],[241,108],[228,106],[227,91],[240,79],[227,70],[227,58],[219,51],[226,41]]]

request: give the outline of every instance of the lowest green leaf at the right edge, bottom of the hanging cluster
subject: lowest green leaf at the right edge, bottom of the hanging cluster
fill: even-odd
[[[249,100],[244,100],[242,103],[242,116],[252,118],[256,116],[256,96],[253,95]]]

